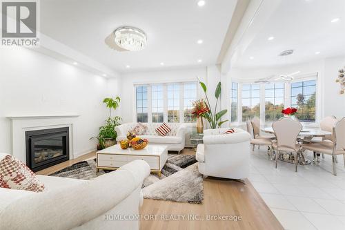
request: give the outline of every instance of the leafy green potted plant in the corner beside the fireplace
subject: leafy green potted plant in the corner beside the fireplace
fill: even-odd
[[[97,149],[108,148],[109,146],[116,144],[117,133],[115,131],[115,127],[120,125],[121,117],[111,117],[111,113],[112,110],[115,111],[119,107],[120,102],[121,99],[119,96],[114,99],[110,97],[103,99],[103,103],[106,104],[107,108],[109,108],[109,117],[106,119],[106,124],[99,127],[98,136],[90,138],[96,138],[99,141]]]

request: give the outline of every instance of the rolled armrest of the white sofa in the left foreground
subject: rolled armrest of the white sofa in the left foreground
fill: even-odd
[[[141,188],[149,173],[146,162],[135,160],[86,183],[34,193],[30,198],[16,200],[0,213],[0,229],[66,230],[80,226]]]

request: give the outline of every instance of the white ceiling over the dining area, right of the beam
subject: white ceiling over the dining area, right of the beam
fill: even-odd
[[[281,1],[233,67],[277,67],[345,55],[344,12],[344,0]],[[339,21],[332,23],[335,18]],[[295,50],[293,55],[278,56],[288,49]]]

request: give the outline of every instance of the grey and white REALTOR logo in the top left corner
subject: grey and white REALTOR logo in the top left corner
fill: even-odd
[[[37,46],[38,1],[1,2],[3,46]],[[22,39],[21,39],[22,38]]]

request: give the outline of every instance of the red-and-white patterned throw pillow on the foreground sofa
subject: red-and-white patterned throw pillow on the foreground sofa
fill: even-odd
[[[44,190],[44,184],[39,182],[34,172],[26,164],[12,155],[5,155],[5,157],[0,157],[0,159],[1,188],[33,192]]]

